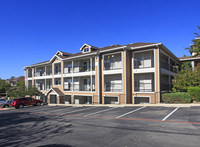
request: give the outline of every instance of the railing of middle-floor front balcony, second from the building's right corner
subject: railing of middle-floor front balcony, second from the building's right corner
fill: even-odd
[[[105,92],[122,92],[122,83],[105,83]]]

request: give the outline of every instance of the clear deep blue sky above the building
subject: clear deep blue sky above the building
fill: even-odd
[[[0,78],[58,51],[135,42],[163,43],[176,56],[195,38],[199,0],[0,0]]]

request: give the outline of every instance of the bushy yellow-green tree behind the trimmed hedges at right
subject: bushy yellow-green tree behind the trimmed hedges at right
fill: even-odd
[[[181,70],[174,78],[173,82],[174,92],[187,92],[189,87],[200,86],[200,68]]]

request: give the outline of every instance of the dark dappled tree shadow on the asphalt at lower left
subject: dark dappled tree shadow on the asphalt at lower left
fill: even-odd
[[[0,146],[39,146],[41,142],[50,144],[47,140],[51,141],[53,137],[66,133],[73,133],[72,125],[59,116],[42,116],[29,112],[0,114]]]

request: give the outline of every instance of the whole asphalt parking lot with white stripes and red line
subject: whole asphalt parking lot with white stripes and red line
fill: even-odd
[[[199,146],[200,107],[39,106],[0,111],[2,146]]]

